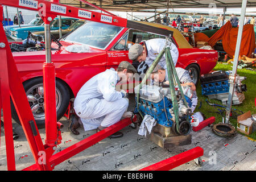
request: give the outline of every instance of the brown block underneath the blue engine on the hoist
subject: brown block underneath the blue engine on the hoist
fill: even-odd
[[[159,147],[171,149],[177,146],[191,144],[192,137],[188,135],[176,135],[171,131],[171,127],[164,127],[159,124],[152,129],[150,134],[151,142],[158,144]]]

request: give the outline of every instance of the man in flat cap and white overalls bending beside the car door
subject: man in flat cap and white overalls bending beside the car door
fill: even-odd
[[[150,39],[142,41],[140,44],[134,44],[129,49],[129,59],[133,60],[133,65],[137,68],[139,74],[146,73],[148,67],[150,67],[159,53],[163,50],[166,45],[166,39]],[[177,63],[179,57],[179,51],[174,43],[169,43],[167,47],[170,47],[170,52],[174,65]],[[158,63],[161,67],[167,70],[166,67],[166,56],[163,55]]]

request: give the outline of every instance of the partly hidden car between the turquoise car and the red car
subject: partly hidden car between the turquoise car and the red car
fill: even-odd
[[[73,23],[70,27],[68,27],[65,30],[62,30],[62,36],[65,36],[66,34],[68,34],[71,31],[76,30],[76,28],[79,28],[80,26],[82,26],[84,23],[86,22],[86,20],[77,20],[75,23]],[[39,32],[33,32],[32,35],[36,36],[37,40],[40,42],[44,42],[44,31],[39,31]],[[51,31],[51,35],[55,36],[56,39],[60,38],[60,30],[52,30]]]

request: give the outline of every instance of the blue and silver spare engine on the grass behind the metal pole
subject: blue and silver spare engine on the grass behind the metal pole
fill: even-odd
[[[205,74],[200,77],[202,95],[208,96],[209,99],[221,100],[222,104],[226,105],[229,95],[229,75],[231,71],[216,71]],[[246,85],[242,81],[246,77],[237,75],[236,85],[233,93],[233,105],[241,104],[245,100]]]

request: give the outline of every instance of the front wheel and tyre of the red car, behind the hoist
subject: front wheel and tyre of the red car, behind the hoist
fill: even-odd
[[[23,83],[24,90],[27,97],[30,96],[28,102],[31,106],[31,110],[38,129],[45,127],[44,117],[44,97],[43,97],[43,77],[33,78]],[[70,93],[68,86],[64,82],[56,80],[56,110],[57,110],[57,121],[63,117],[65,111],[68,108],[70,100]],[[37,111],[36,111],[37,109]],[[11,102],[11,113],[15,122],[20,124],[18,114],[16,113],[13,102]]]

